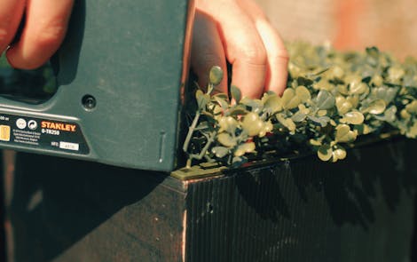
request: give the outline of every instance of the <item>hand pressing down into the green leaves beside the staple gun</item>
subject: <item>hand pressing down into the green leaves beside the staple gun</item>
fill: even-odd
[[[191,64],[206,86],[209,69],[226,72],[232,64],[232,84],[249,98],[264,91],[281,94],[287,83],[287,50],[275,28],[254,0],[195,0]],[[227,79],[217,87],[227,93]]]

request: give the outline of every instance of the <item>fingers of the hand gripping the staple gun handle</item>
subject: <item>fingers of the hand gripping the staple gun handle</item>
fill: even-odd
[[[73,4],[74,0],[1,0],[0,54],[12,44],[25,14],[20,39],[7,49],[6,57],[12,67],[42,66],[62,43]]]

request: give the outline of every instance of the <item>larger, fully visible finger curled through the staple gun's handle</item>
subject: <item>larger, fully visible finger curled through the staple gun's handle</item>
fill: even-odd
[[[7,52],[9,63],[33,69],[49,60],[65,37],[73,4],[74,0],[28,0],[20,41]]]

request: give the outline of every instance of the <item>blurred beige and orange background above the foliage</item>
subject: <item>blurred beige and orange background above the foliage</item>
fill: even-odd
[[[417,57],[415,0],[256,0],[284,40]]]

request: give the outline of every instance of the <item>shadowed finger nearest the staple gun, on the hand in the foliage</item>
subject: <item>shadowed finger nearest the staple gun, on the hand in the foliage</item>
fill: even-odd
[[[197,9],[194,17],[191,65],[199,76],[199,85],[205,88],[209,82],[209,70],[222,67],[224,78],[216,91],[227,93],[227,68],[223,44],[216,28],[216,21]]]

